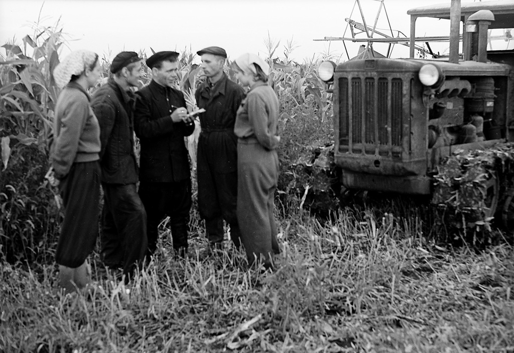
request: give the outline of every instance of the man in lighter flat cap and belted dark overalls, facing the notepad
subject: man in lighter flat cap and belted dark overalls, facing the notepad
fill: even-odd
[[[208,47],[197,52],[207,77],[195,92],[200,113],[197,175],[198,209],[205,220],[210,249],[223,249],[223,219],[230,225],[230,237],[240,247],[237,224],[237,137],[234,123],[244,98],[240,85],[223,72],[225,49]]]

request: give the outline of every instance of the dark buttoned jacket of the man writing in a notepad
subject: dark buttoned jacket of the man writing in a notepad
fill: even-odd
[[[172,121],[170,115],[179,107],[186,107],[183,93],[155,81],[137,92],[134,123],[141,143],[140,181],[178,182],[190,178],[184,138],[193,133],[194,124]]]

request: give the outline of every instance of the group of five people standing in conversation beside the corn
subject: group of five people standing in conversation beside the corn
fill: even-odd
[[[279,103],[267,83],[270,67],[258,55],[241,55],[231,63],[238,85],[224,72],[223,48],[197,54],[206,76],[195,99],[202,108],[197,184],[207,250],[225,251],[225,221],[233,246],[244,247],[250,266],[262,261],[272,267],[272,255],[280,252],[273,216],[280,136]],[[145,64],[152,81],[136,92],[143,74],[143,59],[136,52],[116,55],[111,77],[93,97],[88,89],[101,75],[94,52],[74,51],[53,72],[64,87],[55,108],[50,162],[64,205],[56,262],[66,291],[91,280],[87,257],[99,230],[100,185],[105,266],[122,268],[130,281],[155,253],[158,226],[166,216],[175,256],[188,254],[192,195],[184,140],[195,129],[195,115],[177,88],[178,56],[174,51],[150,56]]]

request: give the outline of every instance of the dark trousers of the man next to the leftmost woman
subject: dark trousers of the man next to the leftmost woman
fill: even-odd
[[[131,277],[146,255],[146,212],[136,184],[102,183],[102,187],[101,257],[106,266],[121,265],[123,273]]]

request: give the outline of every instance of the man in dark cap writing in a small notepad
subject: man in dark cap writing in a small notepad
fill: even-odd
[[[191,174],[185,136],[194,131],[184,95],[175,88],[178,53],[146,60],[152,82],[137,92],[135,130],[141,143],[139,195],[148,215],[148,253],[157,249],[158,226],[168,215],[175,255],[188,250]]]

